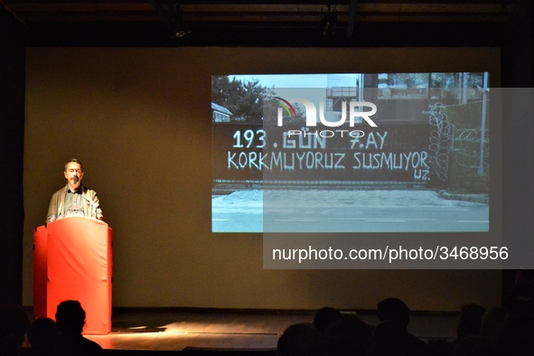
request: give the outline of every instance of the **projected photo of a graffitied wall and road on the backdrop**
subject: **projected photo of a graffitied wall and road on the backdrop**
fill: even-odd
[[[211,78],[213,232],[490,229],[488,73]]]

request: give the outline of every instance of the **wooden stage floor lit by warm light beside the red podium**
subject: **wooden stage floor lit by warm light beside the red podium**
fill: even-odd
[[[370,325],[379,322],[376,314],[358,316]],[[86,337],[117,351],[275,351],[287,326],[313,318],[300,311],[114,311],[111,333]],[[456,321],[457,314],[418,313],[408,330],[426,341],[453,340]]]

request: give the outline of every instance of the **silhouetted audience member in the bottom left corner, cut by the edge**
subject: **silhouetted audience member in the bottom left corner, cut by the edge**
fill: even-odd
[[[30,322],[23,308],[0,305],[0,354],[16,355],[25,340]]]

